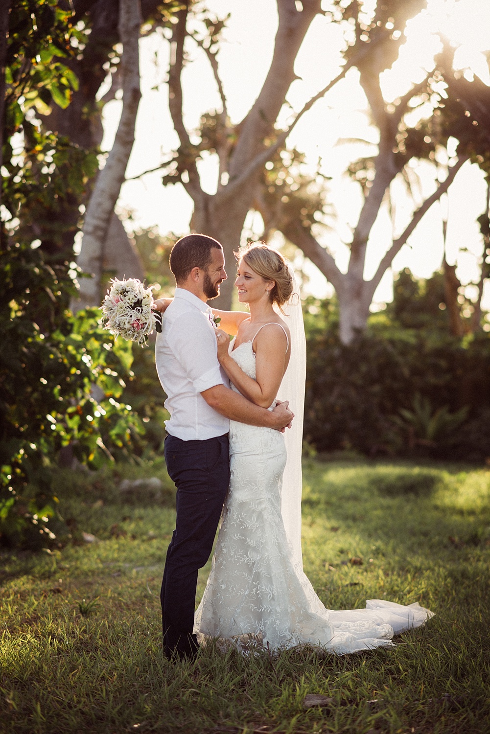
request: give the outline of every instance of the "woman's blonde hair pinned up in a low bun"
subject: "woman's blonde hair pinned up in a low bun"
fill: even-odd
[[[289,301],[292,294],[292,277],[287,262],[277,250],[268,247],[264,242],[251,242],[247,247],[240,247],[234,253],[237,260],[242,259],[264,280],[274,280],[275,286],[270,291],[270,300],[281,308]]]

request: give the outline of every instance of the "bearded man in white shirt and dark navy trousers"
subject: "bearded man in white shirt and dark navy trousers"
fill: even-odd
[[[220,243],[202,234],[182,237],[170,253],[170,270],[177,287],[156,336],[155,358],[170,413],[165,461],[177,487],[177,517],[160,600],[165,654],[192,658],[198,650],[192,633],[198,569],[211,554],[228,492],[229,420],[280,431],[293,415],[287,402],[269,411],[228,387],[206,305],[226,280]]]

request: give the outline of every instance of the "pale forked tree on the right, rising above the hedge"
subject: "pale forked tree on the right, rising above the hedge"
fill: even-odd
[[[375,171],[374,178],[372,178],[372,181],[366,181],[364,186],[364,204],[356,228],[353,231],[347,272],[345,274],[340,272],[334,258],[314,239],[311,233],[311,222],[309,220],[302,222],[298,218],[298,212],[289,203],[282,205],[282,197],[281,200],[275,202],[273,212],[264,211],[261,208],[261,202],[265,202],[266,197],[258,196],[255,200],[256,207],[264,219],[266,230],[268,228],[267,221],[274,219],[275,228],[280,230],[300,250],[303,250],[306,257],[323,272],[323,275],[334,286],[339,300],[339,335],[343,344],[350,344],[356,334],[365,329],[372,298],[384,273],[392,265],[395,255],[400,252],[403,244],[406,244],[408,237],[411,236],[426,211],[447,191],[456,173],[468,159],[466,153],[462,153],[458,157],[458,161],[448,171],[446,180],[439,183],[433,195],[428,197],[414,211],[406,230],[392,241],[392,245],[381,259],[374,277],[371,280],[364,280],[367,244],[372,226],[378,217],[383,200],[389,192],[389,187],[412,156],[416,158],[425,157],[428,152],[421,147],[417,131],[414,134],[414,139],[410,141],[408,149],[403,142],[403,136],[400,135],[400,131],[405,131],[405,127],[403,124],[400,126],[400,123],[403,123],[403,117],[408,110],[408,103],[427,87],[428,80],[425,79],[414,85],[406,95],[397,101],[395,106],[386,105],[380,86],[380,73],[386,67],[386,59],[383,59],[383,43],[385,43],[386,37],[381,34],[378,37],[377,46],[373,43],[374,41],[375,38],[373,38],[370,45],[369,54],[366,53],[361,57],[351,57],[350,59],[353,65],[359,68],[361,87],[363,87],[366,94],[373,121],[379,130],[380,140],[378,153],[372,160],[372,169]],[[294,200],[294,192],[288,192],[286,198]]]

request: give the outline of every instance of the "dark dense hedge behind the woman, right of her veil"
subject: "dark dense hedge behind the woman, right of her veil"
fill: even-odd
[[[413,307],[406,327],[397,307],[345,346],[335,303],[306,303],[306,440],[319,451],[490,457],[489,335],[454,338],[443,314],[417,319]]]

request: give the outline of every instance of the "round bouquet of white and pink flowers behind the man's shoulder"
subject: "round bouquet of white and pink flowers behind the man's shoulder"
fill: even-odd
[[[154,286],[145,288],[137,278],[111,283],[101,305],[104,328],[143,346],[153,331],[162,331],[162,314],[152,309]]]

